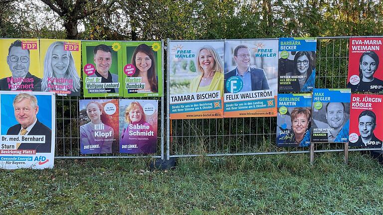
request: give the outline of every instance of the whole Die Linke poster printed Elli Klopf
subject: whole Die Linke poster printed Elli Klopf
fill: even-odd
[[[118,100],[80,100],[80,153],[118,152]]]

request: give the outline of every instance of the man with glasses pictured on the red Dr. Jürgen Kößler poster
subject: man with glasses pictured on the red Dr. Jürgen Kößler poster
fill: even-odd
[[[355,143],[350,142],[350,146],[360,146],[367,148],[381,148],[382,140],[378,139],[374,130],[377,126],[377,115],[371,110],[364,110],[359,114],[358,127],[359,133],[358,141]]]

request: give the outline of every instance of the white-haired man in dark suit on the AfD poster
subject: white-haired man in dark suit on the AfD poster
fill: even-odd
[[[51,151],[52,130],[41,123],[38,113],[37,98],[27,93],[18,94],[13,100],[14,117],[19,124],[11,126],[7,135],[45,135],[45,143],[21,143],[17,149],[35,149],[36,153]]]

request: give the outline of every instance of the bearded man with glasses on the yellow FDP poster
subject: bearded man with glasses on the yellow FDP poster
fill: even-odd
[[[22,49],[22,42],[15,40],[8,48],[6,63],[12,76],[0,80],[2,91],[41,91],[41,79],[30,74],[29,49]]]

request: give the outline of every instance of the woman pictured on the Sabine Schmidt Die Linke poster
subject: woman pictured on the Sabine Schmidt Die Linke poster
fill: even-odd
[[[120,152],[154,153],[157,145],[157,131],[146,121],[146,115],[140,103],[132,102],[126,108],[125,122],[126,126],[120,138]],[[132,147],[123,148],[122,145]]]

